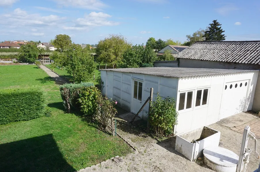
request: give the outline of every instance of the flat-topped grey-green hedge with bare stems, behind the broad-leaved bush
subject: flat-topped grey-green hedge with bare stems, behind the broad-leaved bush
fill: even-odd
[[[68,113],[71,112],[71,107],[79,108],[77,99],[79,98],[79,90],[84,87],[94,86],[93,83],[78,83],[78,84],[64,84],[60,85],[60,94],[63,100],[63,105]]]

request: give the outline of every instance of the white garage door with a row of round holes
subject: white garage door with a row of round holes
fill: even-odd
[[[244,112],[249,80],[229,82],[224,85],[220,119]]]

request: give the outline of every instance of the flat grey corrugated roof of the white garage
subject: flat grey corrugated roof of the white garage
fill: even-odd
[[[204,69],[204,68],[180,68],[180,67],[145,67],[145,68],[119,68],[102,69],[104,71],[116,71],[124,73],[140,73],[161,77],[188,78],[211,75],[227,75],[236,73],[256,72],[256,70],[235,69]]]

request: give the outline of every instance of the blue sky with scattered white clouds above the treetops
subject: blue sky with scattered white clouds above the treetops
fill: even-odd
[[[260,40],[260,1],[227,0],[1,0],[0,41],[41,40],[67,34],[75,43],[96,44],[122,34],[132,44],[205,29],[217,19],[226,40]]]

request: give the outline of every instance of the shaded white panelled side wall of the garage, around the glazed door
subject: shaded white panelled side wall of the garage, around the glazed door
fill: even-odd
[[[159,92],[164,98],[169,96],[176,99],[177,78],[101,70],[101,79],[105,86],[102,90],[103,95],[116,100],[120,107],[130,112],[132,111],[134,79],[143,82],[143,98],[141,105],[143,105],[150,96],[151,87],[153,87],[153,98],[155,98],[157,92]],[[148,108],[149,103],[147,103],[140,113],[143,119],[147,119]]]

